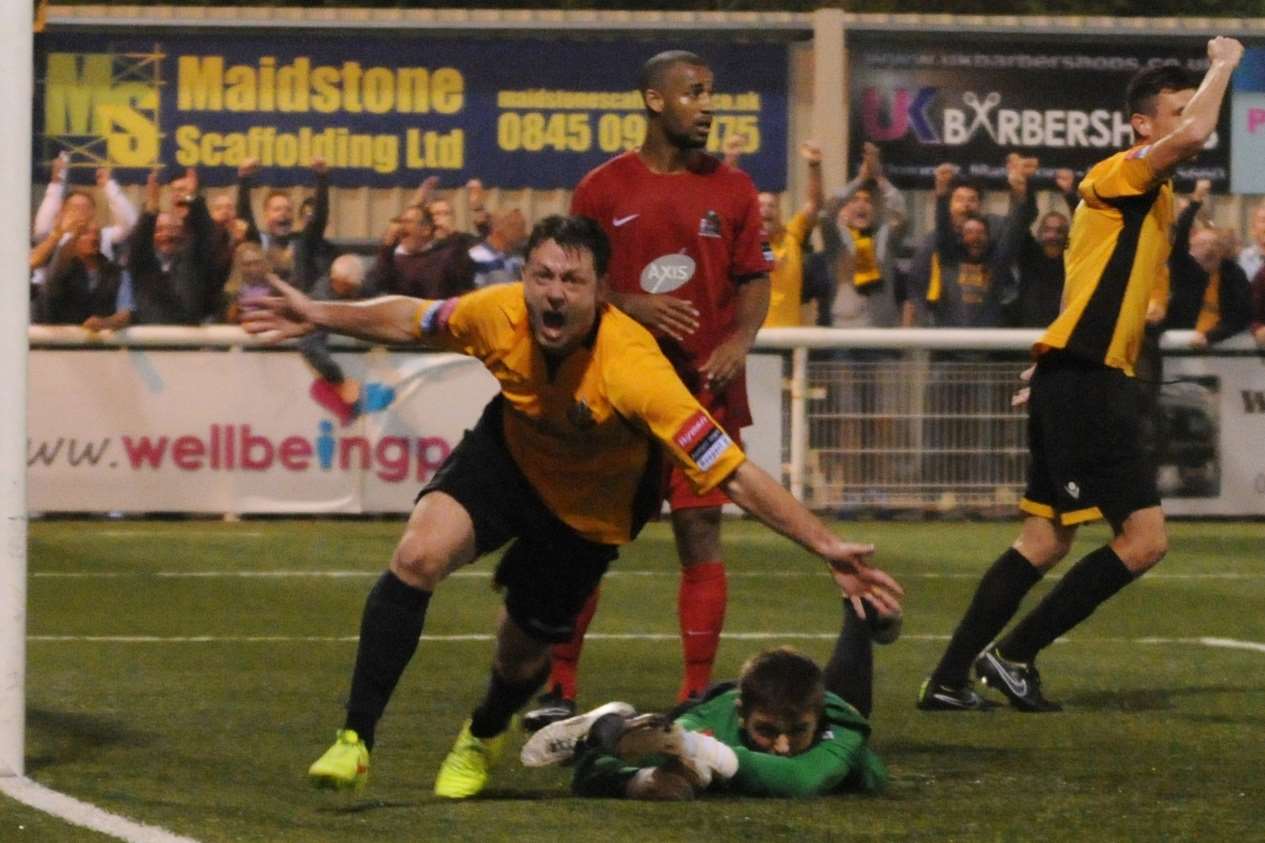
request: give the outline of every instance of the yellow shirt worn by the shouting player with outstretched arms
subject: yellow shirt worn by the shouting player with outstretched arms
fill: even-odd
[[[600,306],[591,342],[552,377],[521,282],[423,300],[414,327],[423,344],[477,357],[492,372],[505,397],[510,456],[550,511],[592,542],[631,539],[651,440],[700,494],[746,459],[650,332],[615,308]]]

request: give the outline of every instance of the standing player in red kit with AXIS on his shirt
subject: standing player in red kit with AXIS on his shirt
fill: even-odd
[[[641,68],[645,142],[591,171],[573,214],[596,219],[611,240],[611,303],[649,328],[686,386],[739,442],[751,423],[746,352],[769,306],[772,253],[751,178],[706,154],[712,71],[669,51]],[[667,481],[682,576],[678,614],[686,670],[679,699],[702,695],[725,623],[720,552],[724,492],[696,495],[673,470]],[[553,672],[529,729],[574,714],[576,672],[597,591],[574,638],[553,649]]]

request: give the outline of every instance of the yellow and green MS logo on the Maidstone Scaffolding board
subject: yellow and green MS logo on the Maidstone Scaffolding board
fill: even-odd
[[[162,53],[49,53],[44,139],[92,165],[153,167],[158,161]]]

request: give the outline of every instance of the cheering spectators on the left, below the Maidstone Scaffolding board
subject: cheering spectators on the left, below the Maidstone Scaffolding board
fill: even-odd
[[[522,267],[528,220],[517,208],[490,209],[483,186],[466,185],[472,230],[457,230],[453,206],[428,178],[392,219],[376,256],[340,251],[325,235],[329,167],[311,162],[312,192],[299,204],[269,190],[254,215],[259,162],[238,168],[235,190],[211,196],[187,170],[161,184],[149,173],[138,209],[106,168],[95,190],[72,187],[68,159],[53,159],[35,213],[30,251],[32,322],[118,330],[130,325],[237,323],[273,280],[314,297],[379,294],[460,295],[515,281]],[[97,201],[109,205],[108,225]],[[312,397],[344,424],[361,406],[361,384],[345,377],[326,337],[306,337],[300,351],[315,380]]]

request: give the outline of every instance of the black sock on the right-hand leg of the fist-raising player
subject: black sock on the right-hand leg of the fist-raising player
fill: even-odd
[[[1055,638],[1092,615],[1133,580],[1133,572],[1125,567],[1111,546],[1098,548],[1077,562],[1036,609],[998,642],[998,652],[1003,658],[1031,662]]]

